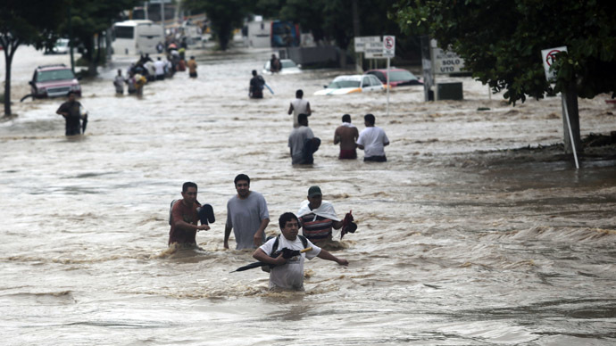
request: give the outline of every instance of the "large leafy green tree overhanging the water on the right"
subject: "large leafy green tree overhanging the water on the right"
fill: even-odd
[[[450,46],[473,77],[495,92],[504,90],[510,103],[563,92],[579,144],[578,95],[616,91],[612,9],[602,0],[399,0],[391,16],[406,33],[428,34]],[[553,87],[545,80],[541,50],[561,45],[568,52],[554,64]],[[572,152],[564,129],[565,151]]]

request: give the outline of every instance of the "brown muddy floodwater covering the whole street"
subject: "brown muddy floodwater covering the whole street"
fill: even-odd
[[[0,334],[4,345],[613,345],[616,343],[616,160],[588,150],[577,170],[558,148],[560,98],[515,107],[462,81],[463,101],[423,103],[420,86],[385,94],[312,95],[350,70],[264,75],[269,51],[188,50],[178,73],[116,96],[115,58],[82,80],[85,136],[67,139],[61,99],[19,102],[37,65],[69,62],[21,47],[13,111],[0,123]],[[4,59],[0,62],[4,80]],[[440,78],[441,81],[447,80]],[[311,103],[322,140],[292,166],[289,102]],[[600,95],[579,100],[582,136],[616,129]],[[483,109],[479,111],[479,109]],[[487,109],[487,110],[486,110]],[[387,162],[338,161],[344,113],[376,116]],[[320,185],[355,234],[306,261],[305,292],[270,292],[252,251],[222,246],[233,178],[246,173],[271,223]],[[194,181],[216,222],[203,251],[168,251],[169,204]],[[235,245],[231,237],[231,247]]]

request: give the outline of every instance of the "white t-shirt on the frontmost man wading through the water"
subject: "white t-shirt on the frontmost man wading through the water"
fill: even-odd
[[[284,235],[280,235],[278,249],[284,248],[291,250],[304,250],[304,244],[299,236],[295,241],[289,241]],[[274,246],[276,238],[271,238],[267,243],[261,245],[261,250],[268,254],[271,253],[271,248]],[[320,247],[308,241],[308,247],[312,247],[311,251],[300,253],[299,256],[292,257],[287,260],[287,263],[282,266],[271,268],[270,271],[270,288],[282,288],[286,290],[304,290],[304,260],[312,260],[320,253]]]

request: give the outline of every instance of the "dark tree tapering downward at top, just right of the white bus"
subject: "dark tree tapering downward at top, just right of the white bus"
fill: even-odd
[[[254,7],[249,0],[185,0],[182,4],[193,12],[205,12],[223,51],[229,47],[233,29],[242,27]]]

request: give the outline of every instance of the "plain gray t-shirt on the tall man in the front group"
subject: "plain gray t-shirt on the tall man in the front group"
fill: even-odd
[[[233,227],[236,250],[254,248],[253,237],[264,218],[270,218],[270,212],[262,194],[251,191],[245,200],[240,200],[236,194],[227,202],[227,227]]]

